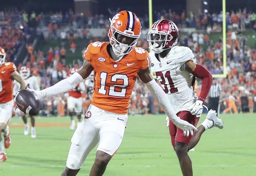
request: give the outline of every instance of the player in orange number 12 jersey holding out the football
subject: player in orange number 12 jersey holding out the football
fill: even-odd
[[[176,116],[162,88],[149,70],[149,53],[135,47],[141,34],[138,17],[121,11],[111,21],[110,42],[94,42],[86,48],[85,62],[69,78],[41,91],[31,90],[39,98],[47,98],[75,88],[94,71],[92,103],[80,126],[71,138],[71,147],[62,176],[75,176],[90,151],[99,143],[90,176],[104,174],[109,160],[123,140],[131,93],[137,76],[146,84],[152,96],[184,135],[197,130]]]

